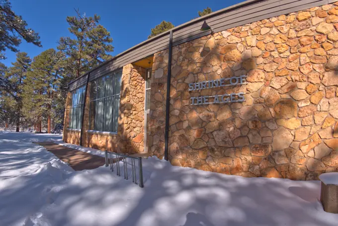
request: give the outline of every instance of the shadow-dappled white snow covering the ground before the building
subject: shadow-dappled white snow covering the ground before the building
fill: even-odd
[[[243,178],[143,161],[145,188],[109,167],[75,172],[33,141],[0,132],[0,226],[337,226],[318,181]],[[122,162],[121,162],[122,166]],[[129,175],[131,167],[129,164]]]

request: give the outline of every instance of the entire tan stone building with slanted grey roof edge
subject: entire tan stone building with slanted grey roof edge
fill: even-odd
[[[318,179],[338,170],[338,2],[248,0],[128,49],[69,91],[65,142]]]

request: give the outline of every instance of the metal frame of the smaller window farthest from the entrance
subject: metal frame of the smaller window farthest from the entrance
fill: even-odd
[[[79,90],[81,89],[81,92]],[[68,129],[77,129],[81,130],[82,129],[82,122],[83,122],[83,108],[84,108],[84,99],[85,99],[85,86],[81,86],[73,91],[71,93],[71,98],[70,98],[70,105],[69,105],[69,115],[68,115]],[[77,104],[74,105],[74,95],[76,94],[77,98]],[[75,121],[75,126],[74,126],[74,110],[76,110],[76,121]],[[80,111],[79,111],[80,110]],[[80,121],[79,121],[80,120]],[[80,124],[79,124],[80,123]],[[80,128],[78,127],[80,125]]]

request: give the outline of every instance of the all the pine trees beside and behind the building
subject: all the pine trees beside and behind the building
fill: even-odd
[[[110,32],[99,24],[100,16],[86,16],[75,10],[67,16],[70,36],[58,40],[57,49],[47,49],[33,59],[18,46],[22,40],[42,47],[39,34],[27,28],[26,21],[11,9],[9,0],[0,0],[0,59],[4,52],[16,52],[10,67],[0,62],[0,126],[32,126],[41,132],[42,124],[51,132],[55,123],[64,123],[68,84],[88,70],[109,60],[114,47]],[[199,16],[212,12],[207,7]],[[148,38],[173,28],[162,21]]]

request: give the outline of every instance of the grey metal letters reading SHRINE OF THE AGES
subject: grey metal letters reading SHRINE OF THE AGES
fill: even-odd
[[[234,76],[231,78],[222,78],[215,79],[209,81],[202,81],[197,83],[189,84],[189,91],[195,90],[204,90],[211,89],[217,87],[226,87],[226,86],[235,86],[248,84],[246,82],[246,75]],[[208,105],[208,104],[220,104],[220,103],[235,103],[235,102],[244,102],[244,95],[246,93],[232,93],[232,94],[223,94],[223,95],[215,95],[215,96],[199,96],[199,97],[191,97],[191,105]],[[209,102],[209,99],[213,98],[213,102]]]

